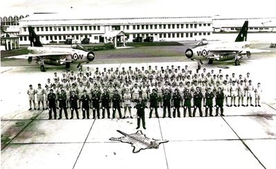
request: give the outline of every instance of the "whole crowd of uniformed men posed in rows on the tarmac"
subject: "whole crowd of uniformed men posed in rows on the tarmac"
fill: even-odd
[[[193,72],[187,66],[181,69],[181,66],[174,68],[161,67],[160,70],[157,66],[152,69],[151,66],[145,70],[135,68],[129,70],[119,68],[113,70],[104,68],[102,72],[98,68],[95,71],[90,70],[89,67],[86,71],[79,70],[77,73],[71,71],[62,74],[62,77],[54,73],[53,83],[48,78],[45,89],[38,85],[37,90],[33,89],[30,85],[28,89],[30,109],[32,110],[31,103],[35,107],[35,95],[37,95],[38,106],[42,103],[44,109],[44,95],[46,100],[46,107],[49,110],[49,119],[52,119],[52,111],[54,112],[54,119],[57,118],[56,108],[59,108],[59,119],[62,119],[62,111],[66,119],[68,119],[67,109],[71,109],[71,118],[73,119],[74,111],[79,119],[78,109],[82,109],[82,119],[89,119],[89,110],[93,110],[93,118],[100,119],[100,109],[102,109],[102,118],[105,118],[105,110],[107,110],[107,118],[111,118],[110,108],[112,108],[112,118],[115,118],[116,110],[120,118],[126,117],[126,112],[129,110],[129,117],[131,115],[131,108],[138,110],[138,117],[145,122],[144,112],[147,104],[149,103],[149,118],[152,117],[152,112],[155,116],[158,115],[158,108],[163,108],[164,117],[181,117],[180,108],[183,107],[183,117],[186,117],[188,112],[189,117],[195,117],[196,110],[199,109],[199,116],[203,116],[201,107],[205,107],[205,117],[213,116],[212,109],[216,108],[215,116],[223,116],[223,105],[226,100],[226,106],[236,105],[236,97],[238,103],[242,106],[243,97],[247,97],[252,106],[252,92],[255,92],[255,106],[259,105],[260,100],[260,83],[257,88],[252,86],[252,80],[249,73],[245,78],[239,75],[235,77],[225,77],[221,70],[217,74],[214,70],[211,72]],[[231,97],[231,104],[228,105],[228,97]],[[141,100],[141,101],[140,101]],[[213,103],[215,101],[215,104]],[[59,103],[59,104],[57,104]],[[122,116],[121,108],[125,107],[125,114]],[[39,107],[37,110],[39,110]],[[145,107],[145,108],[144,108]],[[171,115],[171,108],[173,108],[173,115]],[[192,108],[194,108],[192,112]],[[142,111],[143,109],[143,111]],[[168,116],[167,116],[168,112]],[[176,113],[177,112],[177,113]],[[139,119],[139,121],[140,121]],[[140,122],[139,122],[140,126]],[[145,127],[143,123],[143,127]]]

